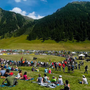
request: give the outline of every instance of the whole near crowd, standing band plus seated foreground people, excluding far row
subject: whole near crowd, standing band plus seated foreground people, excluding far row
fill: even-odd
[[[52,62],[49,60],[49,62],[37,62],[37,61],[28,61],[28,60],[23,60],[23,57],[21,58],[20,61],[13,61],[13,60],[5,60],[0,58],[0,75],[1,78],[5,79],[2,82],[2,85],[4,84],[5,81],[7,81],[7,85],[13,86],[17,85],[17,79],[20,80],[31,80],[33,77],[28,77],[27,72],[22,73],[22,70],[18,69],[19,66],[31,66],[31,71],[36,71],[39,72],[39,67],[44,67],[44,76],[41,77],[41,74],[38,75],[38,78],[36,80],[37,83],[54,83],[55,85],[64,85],[63,90],[70,90],[70,84],[68,80],[65,81],[65,84],[63,83],[62,75],[59,75],[59,77],[53,76],[52,79],[50,80],[49,77],[47,76],[47,73],[52,74],[52,70],[55,71],[66,71],[66,68],[68,69],[68,73],[71,71],[74,72],[74,69],[80,69],[81,66],[84,65],[84,62],[81,61],[79,63],[76,62],[75,58],[72,58],[68,56],[65,60],[60,61],[60,62]],[[13,65],[16,65],[14,68]],[[85,72],[88,73],[87,71],[88,66],[85,66]],[[13,75],[14,73],[12,71],[19,71],[18,74],[15,76]],[[79,81],[81,84],[88,84],[87,78],[85,75],[83,75],[82,81]]]

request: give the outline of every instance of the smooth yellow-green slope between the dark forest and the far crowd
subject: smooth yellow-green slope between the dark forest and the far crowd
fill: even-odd
[[[26,40],[27,35],[0,40],[0,48],[3,49],[31,49],[31,50],[72,50],[89,51],[90,41],[84,42],[55,42],[53,40]]]

